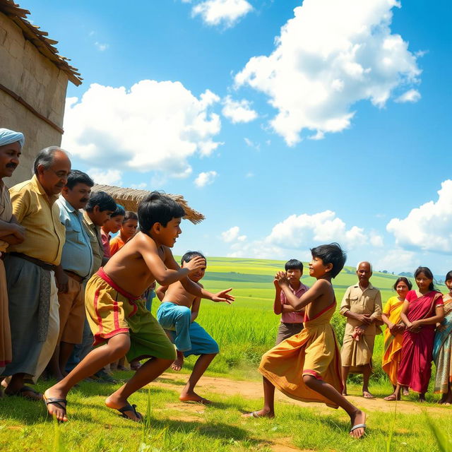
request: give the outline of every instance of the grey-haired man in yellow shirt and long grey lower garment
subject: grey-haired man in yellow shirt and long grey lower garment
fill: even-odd
[[[65,229],[55,201],[66,185],[71,160],[57,146],[38,153],[32,179],[10,189],[13,214],[25,227],[25,240],[11,245],[5,258],[13,343],[13,362],[6,394],[32,400],[41,395],[24,386],[26,374],[35,379],[49,362],[59,333],[54,269],[61,261]]]

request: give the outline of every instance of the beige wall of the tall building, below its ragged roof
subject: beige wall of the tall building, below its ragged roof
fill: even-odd
[[[63,126],[68,77],[23,37],[22,31],[0,13],[0,83],[22,97],[37,112]],[[30,179],[35,155],[61,144],[61,133],[0,89],[0,127],[20,131],[25,145],[20,165],[7,186]]]

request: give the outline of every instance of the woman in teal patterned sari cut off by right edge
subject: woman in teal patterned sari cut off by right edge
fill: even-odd
[[[452,270],[446,275],[449,290],[444,295],[444,321],[436,326],[433,360],[436,365],[435,392],[441,393],[439,403],[452,405]]]

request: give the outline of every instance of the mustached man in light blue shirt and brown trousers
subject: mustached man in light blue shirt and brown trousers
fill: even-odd
[[[90,234],[83,225],[81,209],[90,199],[94,182],[88,174],[74,169],[57,199],[59,219],[66,228],[61,263],[55,270],[59,301],[59,339],[50,362],[50,372],[63,379],[66,363],[76,344],[83,339],[85,323],[85,282],[93,269]]]

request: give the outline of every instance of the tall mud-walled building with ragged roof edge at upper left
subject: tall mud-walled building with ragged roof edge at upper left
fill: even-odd
[[[68,82],[82,83],[69,59],[58,54],[57,41],[30,23],[29,14],[12,0],[0,0],[0,127],[25,134],[8,186],[30,179],[42,148],[61,144]]]

